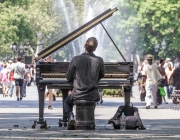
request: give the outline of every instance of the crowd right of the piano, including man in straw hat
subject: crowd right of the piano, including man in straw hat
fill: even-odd
[[[168,104],[166,98],[170,99],[173,89],[180,90],[180,62],[174,63],[170,58],[160,59],[153,63],[153,56],[147,55],[146,59],[138,67],[137,81],[139,83],[139,92],[142,88],[146,90],[146,109],[150,109],[153,99],[154,108],[158,108],[157,92],[158,86],[164,87],[167,96],[162,97],[165,104]]]

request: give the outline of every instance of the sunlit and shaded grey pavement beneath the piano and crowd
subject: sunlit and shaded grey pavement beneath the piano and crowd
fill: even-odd
[[[96,130],[67,130],[66,127],[59,127],[58,120],[62,117],[62,100],[57,98],[53,102],[53,110],[48,110],[48,99],[46,100],[45,120],[48,129],[40,129],[37,125],[32,129],[34,120],[38,120],[38,93],[35,86],[27,87],[27,97],[22,101],[16,101],[15,94],[12,98],[3,98],[0,95],[0,140],[9,139],[133,139],[133,140],[164,140],[180,139],[180,111],[171,110],[169,104],[162,104],[158,109],[145,109],[145,102],[139,99],[137,85],[133,87],[131,102],[139,108],[143,124],[150,125],[147,130],[114,130],[111,125],[106,125],[108,119],[112,118],[118,106],[123,105],[122,97],[104,97],[103,104],[97,105],[95,109]],[[18,127],[17,127],[18,126]]]

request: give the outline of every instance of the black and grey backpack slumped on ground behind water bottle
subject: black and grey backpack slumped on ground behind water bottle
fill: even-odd
[[[119,106],[114,117],[108,121],[108,124],[112,124],[114,129],[120,129],[120,117],[122,112],[124,112],[126,116],[126,129],[146,129],[140,119],[138,108],[133,107],[133,104],[132,106],[129,106],[128,103],[126,105]]]

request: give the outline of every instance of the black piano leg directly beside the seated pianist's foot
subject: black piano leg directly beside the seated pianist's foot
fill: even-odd
[[[62,124],[64,124],[64,126],[67,126],[67,122],[68,122],[67,115],[66,115],[65,110],[64,110],[64,100],[67,98],[69,90],[70,89],[61,89],[61,91],[62,91],[62,104],[63,104],[62,105],[63,106],[63,118],[62,118],[62,120],[61,119],[59,120],[59,126],[60,127],[62,126]]]

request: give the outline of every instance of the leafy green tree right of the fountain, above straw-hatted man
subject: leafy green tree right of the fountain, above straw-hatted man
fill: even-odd
[[[155,44],[163,39],[167,42],[166,55],[180,52],[179,14],[180,1],[178,0],[131,0],[131,4],[138,12],[140,28],[144,32],[144,45],[153,50]],[[168,53],[170,52],[170,53]],[[162,51],[159,53],[162,56]]]

